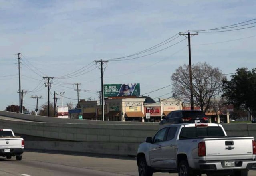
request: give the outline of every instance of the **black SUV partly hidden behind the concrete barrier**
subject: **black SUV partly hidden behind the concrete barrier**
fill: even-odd
[[[208,123],[208,118],[203,111],[177,110],[171,111],[159,122],[159,125],[171,123]]]

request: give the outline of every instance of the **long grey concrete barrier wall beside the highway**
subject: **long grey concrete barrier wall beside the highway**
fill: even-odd
[[[25,148],[124,156],[135,156],[138,145],[163,127],[145,124],[48,123],[0,119],[0,128],[10,128],[21,136],[34,136],[33,140],[24,138]],[[256,124],[222,125],[230,136],[250,135],[256,138]],[[36,137],[50,138],[52,141],[37,140]]]

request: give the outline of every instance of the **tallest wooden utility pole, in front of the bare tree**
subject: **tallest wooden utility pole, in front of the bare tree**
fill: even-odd
[[[187,34],[181,34],[179,35],[185,36],[188,39],[188,55],[189,55],[189,81],[190,81],[190,103],[191,103],[191,110],[194,109],[194,97],[193,97],[193,82],[192,82],[192,66],[191,66],[191,47],[190,47],[190,36],[198,35],[196,34],[190,34],[188,31]],[[187,36],[186,36],[187,35]]]

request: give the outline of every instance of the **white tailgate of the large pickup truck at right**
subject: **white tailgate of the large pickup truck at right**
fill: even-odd
[[[252,159],[253,137],[206,138],[206,160]]]

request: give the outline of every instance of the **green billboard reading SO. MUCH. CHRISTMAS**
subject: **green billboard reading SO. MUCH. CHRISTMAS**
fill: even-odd
[[[139,96],[139,83],[104,84],[104,97]]]

